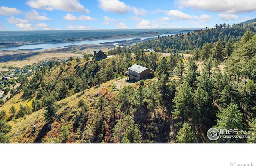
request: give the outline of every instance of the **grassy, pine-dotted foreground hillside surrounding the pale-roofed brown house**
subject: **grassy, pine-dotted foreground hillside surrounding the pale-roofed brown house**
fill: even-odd
[[[236,42],[219,38],[192,55],[117,47],[106,59],[84,54],[32,64],[32,72],[1,85],[10,97],[1,100],[0,141],[255,142],[206,136],[212,127],[256,127],[256,34],[241,33]],[[127,80],[133,64],[153,69],[154,78]]]

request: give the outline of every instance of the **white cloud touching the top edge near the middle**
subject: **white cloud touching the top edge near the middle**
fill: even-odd
[[[147,11],[143,8],[139,10],[135,7],[127,6],[124,2],[119,0],[98,0],[100,8],[107,12],[115,12],[118,14],[125,14],[129,11],[134,12],[137,16],[145,16]]]

